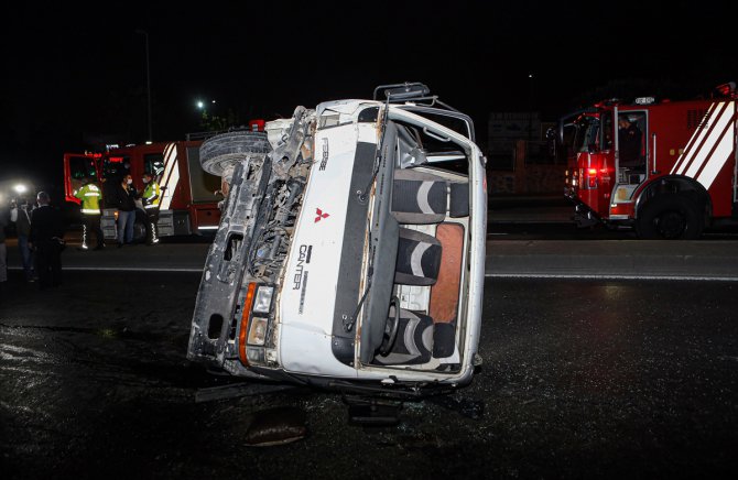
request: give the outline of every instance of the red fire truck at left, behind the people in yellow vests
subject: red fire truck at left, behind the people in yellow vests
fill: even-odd
[[[215,232],[220,220],[218,201],[223,196],[220,178],[203,171],[199,163],[202,140],[153,143],[109,149],[105,153],[66,153],[64,155],[64,193],[66,200],[79,204],[74,193],[86,176],[97,178],[102,186],[112,185],[127,175],[141,190],[144,172],[154,175],[162,188],[159,234],[188,236]],[[101,226],[106,239],[116,238],[116,209],[105,208]],[[145,236],[143,210],[138,212],[134,239]]]

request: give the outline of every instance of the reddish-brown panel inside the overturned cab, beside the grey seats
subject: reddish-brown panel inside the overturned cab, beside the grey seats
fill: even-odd
[[[441,254],[438,281],[431,288],[430,314],[434,323],[447,324],[456,319],[458,312],[464,226],[460,223],[441,223],[435,236],[441,242],[443,253]]]

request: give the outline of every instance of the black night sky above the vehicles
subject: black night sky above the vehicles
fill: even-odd
[[[738,80],[736,1],[24,2],[3,10],[0,179],[23,174],[61,185],[65,151],[145,140],[142,32],[154,141],[200,130],[198,99],[246,122],[290,117],[297,105],[370,98],[380,84],[423,81],[473,117],[484,143],[491,111],[555,120],[598,98],[691,98]]]

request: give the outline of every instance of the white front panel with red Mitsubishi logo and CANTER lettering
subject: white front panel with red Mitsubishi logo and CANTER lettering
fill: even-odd
[[[334,364],[341,371],[347,369],[330,351],[330,335],[357,137],[354,123],[315,134],[316,164],[305,190],[279,299],[280,361],[287,371],[329,374],[335,373]],[[323,145],[327,145],[326,157]],[[311,348],[305,348],[311,343]]]

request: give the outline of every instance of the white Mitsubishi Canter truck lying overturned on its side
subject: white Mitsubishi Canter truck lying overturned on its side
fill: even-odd
[[[422,84],[383,86],[214,137],[200,161],[229,193],[188,359],[380,396],[471,381],[487,192],[469,117]]]

